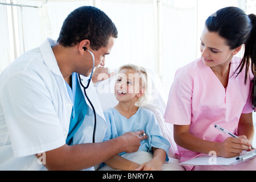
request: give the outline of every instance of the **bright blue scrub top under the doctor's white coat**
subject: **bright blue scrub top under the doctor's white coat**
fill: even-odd
[[[68,145],[73,144],[73,135],[79,129],[84,121],[86,111],[88,110],[88,105],[85,102],[84,94],[79,85],[79,80],[76,76],[76,73],[72,73],[72,88],[66,83],[69,97],[73,103],[71,119],[69,124],[68,137],[66,143]]]

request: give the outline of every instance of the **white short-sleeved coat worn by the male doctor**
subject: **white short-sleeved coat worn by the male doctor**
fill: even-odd
[[[46,169],[35,154],[65,144],[72,102],[52,52],[55,43],[48,39],[24,53],[0,76],[0,170]],[[88,78],[82,78],[86,85]],[[102,142],[107,125],[93,84],[86,93],[97,113],[96,142]],[[86,103],[73,144],[92,143],[94,116]]]

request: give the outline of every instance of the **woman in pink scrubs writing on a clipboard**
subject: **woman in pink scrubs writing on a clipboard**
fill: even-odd
[[[251,150],[254,137],[250,59],[255,64],[255,15],[237,7],[218,10],[205,22],[201,58],[181,68],[170,90],[166,122],[174,124],[181,162],[215,151],[230,158]],[[245,44],[245,56],[235,57]],[[254,71],[254,70],[253,70]],[[218,131],[219,125],[239,138]],[[250,170],[256,160],[233,167],[186,167],[187,170]]]

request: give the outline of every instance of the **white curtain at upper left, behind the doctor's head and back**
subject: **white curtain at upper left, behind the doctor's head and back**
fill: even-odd
[[[0,74],[21,53],[38,47],[47,38],[57,39],[67,15],[77,7],[90,5],[89,0],[44,2],[16,2],[39,8],[0,5]]]

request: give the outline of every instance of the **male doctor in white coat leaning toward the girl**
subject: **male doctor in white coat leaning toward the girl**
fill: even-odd
[[[112,156],[135,152],[143,131],[102,142],[106,122],[97,94],[86,89],[104,65],[117,29],[101,10],[83,6],[68,15],[57,42],[48,39],[16,59],[0,76],[0,170],[93,169]]]

